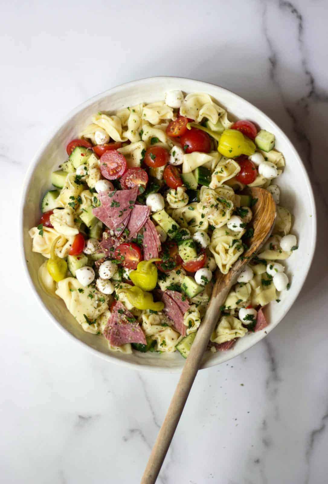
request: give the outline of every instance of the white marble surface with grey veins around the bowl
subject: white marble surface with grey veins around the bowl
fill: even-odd
[[[13,1],[1,20],[1,482],[140,480],[178,375],[110,365],[58,332],[21,275],[16,220],[30,159],[62,116],[122,82],[172,75],[235,91],[285,129],[319,233],[287,317],[200,372],[157,482],[327,483],[327,2]]]

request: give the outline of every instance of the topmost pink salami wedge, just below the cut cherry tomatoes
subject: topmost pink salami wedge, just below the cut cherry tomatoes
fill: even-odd
[[[138,188],[131,190],[114,190],[114,192],[100,192],[98,198],[100,207],[92,209],[92,213],[103,222],[106,227],[114,230],[121,227],[134,207],[138,195]]]

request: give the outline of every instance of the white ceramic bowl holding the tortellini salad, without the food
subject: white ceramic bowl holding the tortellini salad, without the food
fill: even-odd
[[[231,115],[239,119],[255,121],[262,129],[273,133],[276,137],[276,149],[282,151],[286,166],[283,176],[279,179],[281,187],[281,205],[293,213],[295,221],[292,228],[299,241],[299,250],[287,261],[287,273],[292,274],[291,287],[281,296],[281,302],[269,305],[267,315],[270,321],[266,332],[252,333],[239,339],[235,347],[229,351],[211,353],[204,356],[203,368],[225,362],[246,349],[255,345],[265,337],[284,318],[287,311],[296,300],[311,266],[316,238],[316,215],[311,184],[297,151],[287,136],[255,106],[237,96],[233,92],[205,82],[179,77],[151,77],[129,82],[115,87],[93,97],[86,103],[74,109],[63,121],[60,127],[43,144],[34,157],[27,173],[21,209],[21,230],[23,243],[23,259],[32,291],[47,312],[50,319],[68,334],[72,340],[82,344],[95,354],[109,362],[129,366],[138,370],[180,371],[185,360],[178,352],[173,354],[140,353],[123,355],[108,350],[105,338],[85,333],[81,326],[71,316],[63,301],[49,297],[40,287],[37,278],[38,268],[44,261],[40,254],[31,251],[29,228],[36,225],[40,219],[40,200],[49,189],[50,174],[63,162],[67,143],[90,122],[90,117],[102,110],[133,106],[140,102],[151,103],[164,100],[166,91],[182,90],[184,92],[202,91],[213,96]],[[28,261],[28,262],[27,262]]]

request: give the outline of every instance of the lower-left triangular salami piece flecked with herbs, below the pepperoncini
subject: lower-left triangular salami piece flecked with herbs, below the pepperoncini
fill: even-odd
[[[147,344],[138,322],[120,301],[116,302],[103,334],[113,346],[126,343]]]

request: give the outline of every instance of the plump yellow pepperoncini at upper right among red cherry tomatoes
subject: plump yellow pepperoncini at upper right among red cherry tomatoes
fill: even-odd
[[[255,144],[240,131],[226,129],[221,135],[217,151],[227,158],[235,158],[241,154],[250,156],[255,152]]]

